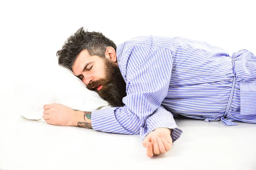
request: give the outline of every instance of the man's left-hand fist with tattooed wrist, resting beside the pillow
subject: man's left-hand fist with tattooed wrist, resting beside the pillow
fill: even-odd
[[[64,105],[44,105],[44,120],[51,125],[92,128],[91,112],[74,111]]]

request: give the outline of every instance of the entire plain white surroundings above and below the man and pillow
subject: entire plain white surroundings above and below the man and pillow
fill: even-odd
[[[0,1],[0,169],[256,170],[255,124],[176,119],[183,135],[169,153],[149,159],[139,136],[26,120],[13,99],[24,64],[55,57],[81,26],[116,44],[142,35],[181,36],[230,55],[256,54],[255,16],[252,0]]]

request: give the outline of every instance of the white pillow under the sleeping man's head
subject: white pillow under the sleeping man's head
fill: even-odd
[[[20,75],[15,85],[17,110],[26,119],[44,121],[46,104],[57,103],[90,112],[110,107],[72,71],[59,66],[57,59],[31,59],[17,74]]]

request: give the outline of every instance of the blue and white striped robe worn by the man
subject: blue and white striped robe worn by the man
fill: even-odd
[[[182,37],[136,37],[117,46],[126,82],[124,107],[92,112],[94,130],[145,136],[157,127],[180,130],[174,117],[256,123],[256,56]]]

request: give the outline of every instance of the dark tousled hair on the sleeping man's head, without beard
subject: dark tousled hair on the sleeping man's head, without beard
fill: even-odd
[[[72,71],[76,57],[81,51],[86,49],[90,55],[103,58],[108,46],[113,47],[116,51],[116,44],[102,33],[84,31],[84,27],[81,27],[65,41],[61,50],[57,51],[58,64]]]

